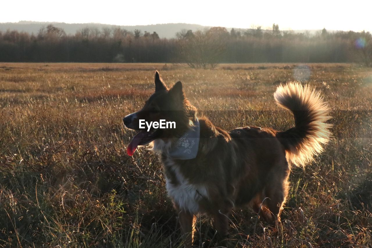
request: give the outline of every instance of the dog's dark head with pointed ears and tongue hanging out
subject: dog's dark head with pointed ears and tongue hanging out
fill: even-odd
[[[124,117],[124,125],[133,130],[140,130],[127,147],[128,155],[132,156],[138,146],[144,146],[155,139],[169,139],[182,136],[190,127],[190,121],[196,118],[196,108],[185,98],[182,83],[177,82],[168,89],[158,73],[155,72],[155,92],[148,98],[142,109]],[[140,120],[147,123],[174,122],[175,128],[140,128]],[[143,121],[142,121],[143,123]],[[142,125],[143,127],[143,125]]]

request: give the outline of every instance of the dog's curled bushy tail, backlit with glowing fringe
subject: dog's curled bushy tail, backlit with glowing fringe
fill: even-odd
[[[297,166],[305,166],[323,151],[330,138],[329,108],[323,97],[308,85],[293,82],[280,85],[274,93],[276,103],[292,111],[295,127],[279,131],[276,137],[286,150],[287,158]]]

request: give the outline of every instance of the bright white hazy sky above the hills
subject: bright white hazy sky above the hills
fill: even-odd
[[[280,29],[372,31],[372,1],[203,1],[203,0],[10,0],[2,1],[0,22],[106,23],[148,25],[195,23],[227,28],[252,25]]]

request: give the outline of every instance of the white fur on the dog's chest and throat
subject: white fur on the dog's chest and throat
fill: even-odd
[[[160,151],[167,149],[169,145],[154,142],[154,150]],[[165,161],[167,169],[172,170],[177,182],[172,182],[166,177],[166,187],[169,197],[181,210],[193,214],[200,212],[199,201],[203,198],[209,198],[208,189],[203,184],[191,184],[187,178],[182,175],[179,165],[173,159],[167,158]]]

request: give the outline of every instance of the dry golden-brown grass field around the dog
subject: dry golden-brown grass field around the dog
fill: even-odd
[[[333,138],[293,168],[282,223],[248,209],[231,216],[229,247],[372,246],[372,71],[350,64],[0,63],[0,247],[181,247],[157,156],[126,155],[122,118],[154,91],[155,69],[183,82],[218,126],[284,130],[280,83],[308,79],[332,109]],[[196,247],[216,246],[207,217]]]

